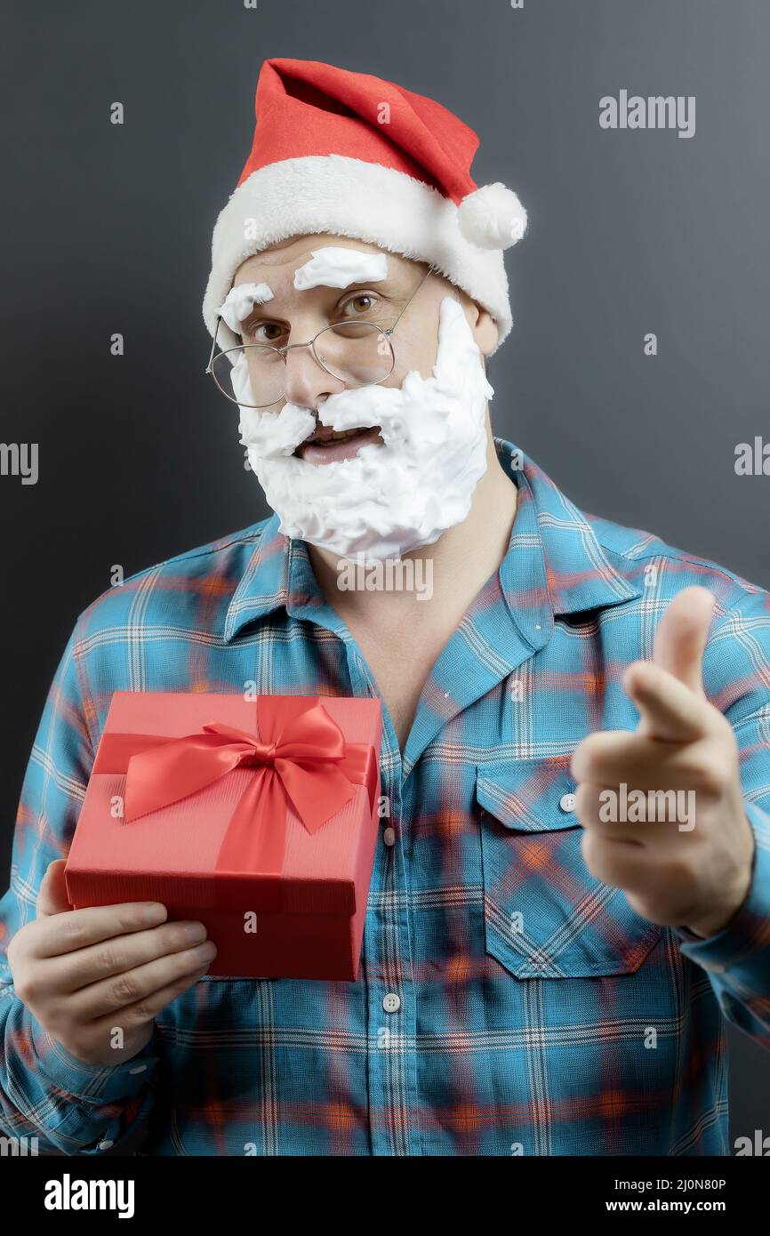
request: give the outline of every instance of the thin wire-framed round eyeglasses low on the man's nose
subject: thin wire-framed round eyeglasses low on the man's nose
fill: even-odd
[[[324,326],[307,344],[284,344],[283,347],[273,347],[272,344],[241,344],[216,352],[215,356],[222,320],[218,315],[205,372],[211,375],[231,403],[245,408],[271,408],[286,398],[287,352],[293,347],[309,347],[320,367],[346,387],[379,386],[396,367],[393,331],[434,269],[434,266],[428,267],[393,325],[384,329],[377,323],[356,318]],[[256,394],[262,402],[252,403],[251,399],[242,398],[243,394]]]

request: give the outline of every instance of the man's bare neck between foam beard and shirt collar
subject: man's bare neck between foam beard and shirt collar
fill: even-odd
[[[387,623],[391,617],[400,622],[408,613],[412,623],[433,624],[436,614],[444,614],[452,618],[454,627],[506,556],[517,496],[517,487],[497,456],[487,415],[487,471],[473,491],[467,517],[442,533],[435,544],[404,555],[404,561],[415,561],[414,578],[430,581],[431,599],[439,604],[425,604],[414,590],[344,591],[339,586],[339,556],[308,545],[326,601],[342,617],[355,616],[362,622]]]

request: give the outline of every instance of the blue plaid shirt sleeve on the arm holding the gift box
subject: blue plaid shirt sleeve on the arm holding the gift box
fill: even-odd
[[[0,1132],[26,1138],[23,1145],[33,1145],[41,1154],[120,1153],[150,1115],[161,1059],[156,1027],[146,1047],[120,1064],[79,1060],[22,1004],[7,964],[10,941],[35,918],[48,864],[67,857],[94,763],[78,681],[78,625],[57,667],[32,745],[10,885],[0,899]]]

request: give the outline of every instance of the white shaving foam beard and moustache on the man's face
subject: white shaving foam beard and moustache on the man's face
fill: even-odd
[[[232,387],[236,399],[253,402],[242,355]],[[460,304],[444,297],[431,377],[413,370],[400,387],[342,391],[318,409],[321,425],[336,430],[379,425],[384,445],[309,464],[293,451],[314,431],[315,415],[292,403],[279,413],[239,404],[241,442],[286,536],[365,562],[398,559],[467,517],[487,470],[493,394]]]

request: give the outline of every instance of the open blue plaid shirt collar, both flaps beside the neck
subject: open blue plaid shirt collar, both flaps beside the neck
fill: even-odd
[[[499,585],[510,617],[535,645],[550,638],[556,614],[619,604],[641,595],[627,577],[622,555],[599,544],[590,518],[524,451],[496,438],[498,457],[519,494],[508,550],[499,567]],[[279,530],[273,514],[263,525],[246,571],[225,616],[224,639],[276,609],[289,613],[319,609],[325,601],[302,540]],[[528,604],[522,606],[522,595]],[[534,632],[538,632],[534,635]]]

